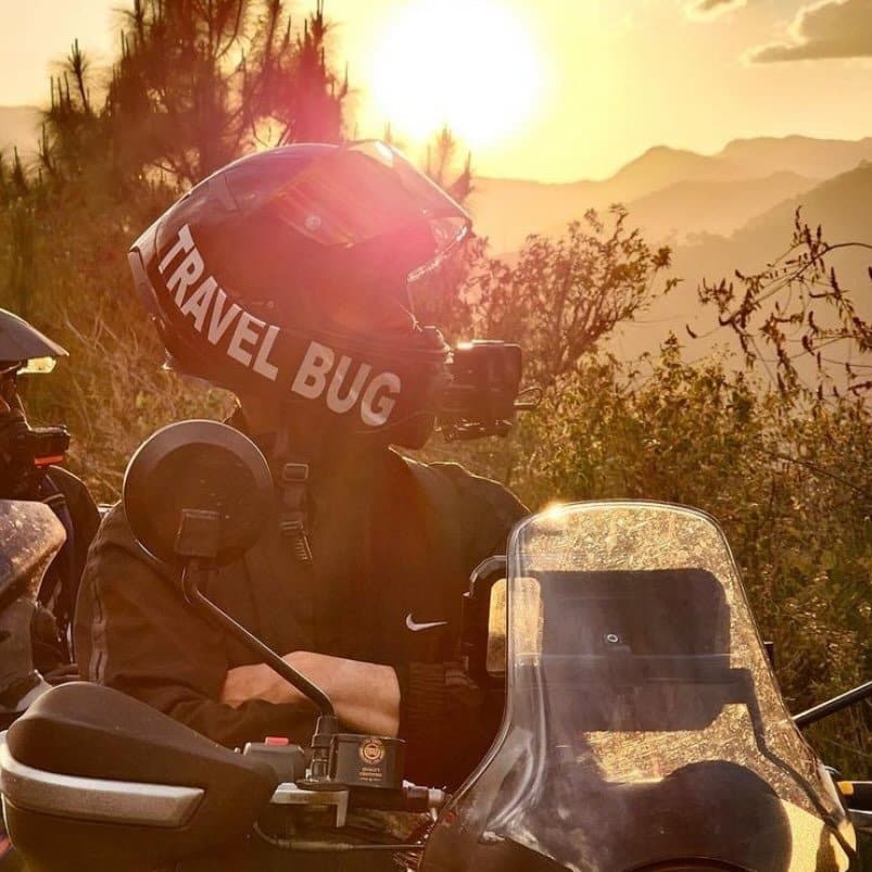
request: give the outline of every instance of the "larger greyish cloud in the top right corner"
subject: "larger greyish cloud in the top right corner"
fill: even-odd
[[[754,63],[872,58],[872,0],[823,0],[796,13],[788,39],[758,46]]]

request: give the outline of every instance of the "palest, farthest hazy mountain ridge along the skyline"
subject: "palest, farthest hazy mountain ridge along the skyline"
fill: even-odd
[[[754,214],[863,160],[872,160],[872,138],[743,139],[713,155],[657,147],[602,181],[481,178],[469,206],[495,252],[519,248],[528,233],[559,232],[587,208],[616,202],[628,205],[653,239],[674,230],[681,240],[690,232],[730,233]]]

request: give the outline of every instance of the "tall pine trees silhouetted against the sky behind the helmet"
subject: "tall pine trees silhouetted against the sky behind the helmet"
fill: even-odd
[[[321,2],[298,35],[280,0],[135,0],[123,14],[101,101],[77,42],[52,80],[52,176],[96,167],[125,184],[157,170],[184,187],[258,144],[342,138],[347,78],[327,62]]]

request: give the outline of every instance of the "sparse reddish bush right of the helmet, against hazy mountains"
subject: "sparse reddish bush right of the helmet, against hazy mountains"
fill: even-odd
[[[419,309],[451,336],[498,337],[520,343],[527,371],[539,384],[569,372],[618,324],[668,293],[668,248],[652,249],[628,213],[589,210],[563,236],[530,236],[513,261],[490,257],[477,240],[453,266],[451,280]],[[426,296],[426,293],[422,294]]]

